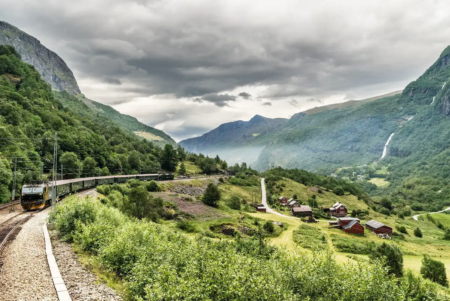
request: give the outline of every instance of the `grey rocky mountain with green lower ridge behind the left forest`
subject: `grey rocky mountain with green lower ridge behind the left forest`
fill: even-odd
[[[60,102],[79,114],[101,115],[111,119],[119,127],[135,132],[138,136],[146,138],[158,145],[176,142],[165,132],[152,128],[139,122],[132,116],[121,114],[108,105],[90,100],[81,94],[72,70],[56,53],[43,46],[35,37],[28,35],[17,27],[0,21],[0,45],[10,45],[21,56],[21,59],[33,65],[41,77],[48,82],[54,90],[67,92],[67,96],[58,97]],[[75,96],[76,100],[74,97]],[[80,106],[81,103],[85,105]]]

